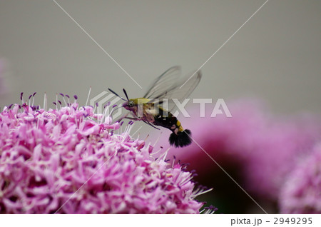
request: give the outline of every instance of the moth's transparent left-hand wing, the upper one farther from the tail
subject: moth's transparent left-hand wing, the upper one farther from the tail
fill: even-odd
[[[168,89],[177,84],[181,74],[180,71],[180,66],[173,66],[166,70],[161,76],[158,76],[143,97],[147,99],[158,99],[158,97],[163,96]]]

